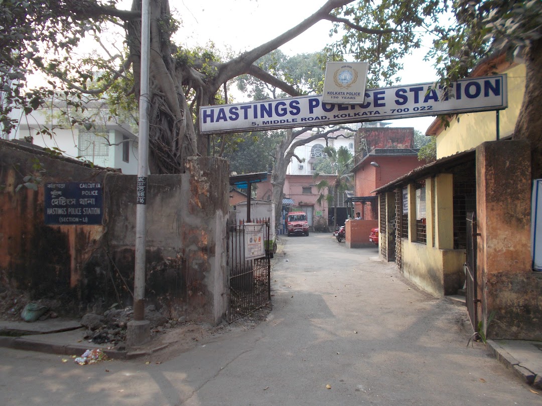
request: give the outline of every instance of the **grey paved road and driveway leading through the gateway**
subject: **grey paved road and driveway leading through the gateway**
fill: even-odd
[[[406,283],[377,248],[318,233],[281,241],[274,308],[256,328],[160,364],[0,349],[0,404],[542,404],[482,344],[467,348],[463,308]]]

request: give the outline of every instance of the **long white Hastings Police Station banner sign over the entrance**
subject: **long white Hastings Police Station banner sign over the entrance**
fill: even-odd
[[[467,78],[445,92],[435,83],[365,91],[363,104],[331,104],[321,95],[199,108],[199,132],[220,134],[501,110],[508,107],[506,75]]]

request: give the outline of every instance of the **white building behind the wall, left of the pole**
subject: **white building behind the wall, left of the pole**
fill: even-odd
[[[58,118],[61,110],[56,108],[35,110],[28,116],[16,109],[11,115],[19,124],[8,139],[31,141],[70,158],[120,169],[124,174],[138,172],[138,137],[127,124],[102,120],[102,124],[95,122],[89,129],[71,126]]]

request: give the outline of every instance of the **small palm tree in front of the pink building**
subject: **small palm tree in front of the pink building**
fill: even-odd
[[[325,152],[332,160],[332,166],[335,169],[335,178],[332,184],[326,179],[320,180],[316,187],[320,194],[316,202],[323,208],[322,203],[327,202],[328,207],[333,205],[333,230],[337,228],[337,204],[339,199],[339,192],[345,192],[352,184],[352,173],[350,172],[353,166],[354,157],[346,147],[325,147],[322,152]],[[313,179],[317,179],[320,174],[315,172]],[[324,192],[329,188],[332,188],[332,193],[325,194]],[[335,200],[335,197],[337,199]]]

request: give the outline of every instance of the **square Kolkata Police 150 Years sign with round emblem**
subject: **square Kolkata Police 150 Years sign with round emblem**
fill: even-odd
[[[367,62],[327,62],[324,103],[363,104]]]

